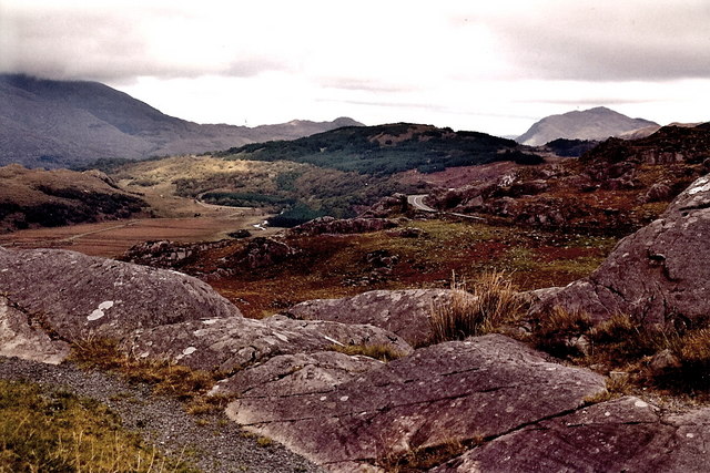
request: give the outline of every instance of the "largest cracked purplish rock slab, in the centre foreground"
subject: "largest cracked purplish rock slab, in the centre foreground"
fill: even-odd
[[[501,435],[578,409],[601,376],[504,336],[446,342],[325,393],[245,392],[227,414],[332,471],[449,441]]]

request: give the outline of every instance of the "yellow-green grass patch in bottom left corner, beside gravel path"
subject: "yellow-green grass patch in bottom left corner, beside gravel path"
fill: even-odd
[[[0,472],[195,472],[121,428],[108,408],[0,380]]]

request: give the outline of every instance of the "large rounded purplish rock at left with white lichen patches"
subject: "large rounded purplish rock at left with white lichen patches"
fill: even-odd
[[[65,340],[223,317],[239,309],[193,277],[62,249],[0,248],[0,292]]]

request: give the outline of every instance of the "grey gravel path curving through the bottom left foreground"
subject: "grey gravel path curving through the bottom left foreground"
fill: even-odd
[[[146,442],[176,457],[189,452],[183,457],[205,472],[323,472],[282,445],[258,445],[223,413],[190,415],[180,402],[103,372],[0,357],[0,379],[31,381],[95,399]]]

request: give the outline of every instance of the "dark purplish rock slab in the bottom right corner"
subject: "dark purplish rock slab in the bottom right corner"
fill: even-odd
[[[435,469],[485,472],[707,472],[710,409],[663,417],[627,397],[497,438]]]

